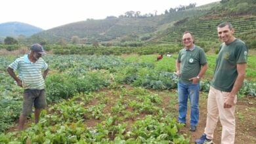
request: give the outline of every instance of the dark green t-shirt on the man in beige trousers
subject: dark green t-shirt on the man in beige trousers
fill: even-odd
[[[248,48],[243,41],[236,39],[226,45],[222,43],[216,58],[216,66],[211,86],[217,90],[231,92],[236,77],[238,77],[237,63],[247,62]]]

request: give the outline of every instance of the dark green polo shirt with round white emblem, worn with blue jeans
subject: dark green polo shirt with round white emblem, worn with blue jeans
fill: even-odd
[[[194,49],[192,48],[192,50],[182,48],[177,60],[181,63],[181,77],[179,78],[179,81],[186,84],[191,84],[192,81],[189,81],[189,79],[198,76],[202,65],[207,63],[205,52],[198,46],[194,46]]]

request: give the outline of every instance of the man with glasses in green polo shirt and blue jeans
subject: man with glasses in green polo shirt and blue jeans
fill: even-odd
[[[194,37],[186,31],[182,37],[184,48],[180,50],[176,61],[179,75],[179,123],[186,124],[188,99],[190,100],[190,131],[195,132],[199,120],[200,78],[207,70],[207,60],[202,48],[194,45]]]

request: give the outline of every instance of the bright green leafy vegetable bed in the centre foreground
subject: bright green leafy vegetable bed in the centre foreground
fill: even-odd
[[[116,99],[116,105],[112,98]],[[136,101],[137,105],[131,101]],[[126,106],[117,112],[121,105]],[[32,124],[24,132],[1,134],[0,142],[189,143],[189,138],[179,134],[182,126],[177,124],[176,118],[166,115],[169,111],[161,109],[160,105],[161,98],[157,94],[142,88],[76,94],[68,101],[50,105],[48,111],[43,111],[39,123]],[[135,117],[125,116],[136,111]],[[88,120],[96,119],[95,126],[87,126]]]

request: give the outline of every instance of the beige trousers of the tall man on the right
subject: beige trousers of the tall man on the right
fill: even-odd
[[[213,139],[213,133],[217,126],[218,119],[221,120],[221,125],[223,126],[221,134],[222,144],[232,144],[234,143],[235,131],[236,131],[236,121],[234,117],[235,113],[235,103],[231,108],[224,109],[224,100],[227,98],[229,92],[222,92],[210,87],[208,101],[207,101],[207,121],[205,127],[205,134],[207,138]]]

